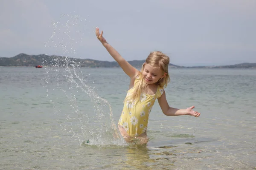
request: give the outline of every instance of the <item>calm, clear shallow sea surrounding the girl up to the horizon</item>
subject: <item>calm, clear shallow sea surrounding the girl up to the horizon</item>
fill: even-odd
[[[147,144],[117,130],[121,68],[0,67],[1,170],[256,170],[256,69],[169,68]]]

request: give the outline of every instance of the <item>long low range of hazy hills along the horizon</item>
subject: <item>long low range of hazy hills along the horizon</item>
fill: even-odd
[[[132,66],[136,68],[141,68],[145,60],[133,60],[128,61]],[[0,66],[55,66],[55,67],[66,67],[77,65],[79,67],[119,67],[118,63],[115,61],[99,61],[94,59],[76,59],[70,57],[56,56],[56,55],[28,55],[28,54],[18,54],[15,57],[0,57]],[[256,68],[256,63],[241,63],[236,65],[224,65],[224,66],[194,66],[194,67],[184,67],[179,65],[169,64],[172,68]]]

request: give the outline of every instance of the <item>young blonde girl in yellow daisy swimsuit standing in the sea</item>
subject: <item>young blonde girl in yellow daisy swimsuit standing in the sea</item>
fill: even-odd
[[[156,99],[166,116],[200,116],[200,113],[192,110],[194,106],[187,109],[169,107],[163,89],[170,79],[168,56],[160,51],[151,52],[141,71],[138,71],[108,44],[102,34],[103,31],[99,34],[99,28],[96,28],[97,38],[130,77],[129,90],[118,122],[118,129],[127,142],[134,138],[147,142],[148,116]]]

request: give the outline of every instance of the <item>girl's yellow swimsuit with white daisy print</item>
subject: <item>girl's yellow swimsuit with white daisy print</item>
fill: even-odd
[[[135,79],[134,85],[138,82],[138,78]],[[128,90],[131,93],[134,89]],[[163,94],[163,88],[157,87],[156,94],[144,94],[140,95],[139,102],[126,103],[122,110],[121,117],[118,125],[121,125],[129,136],[136,137],[147,130],[148,116],[154,105],[154,102]]]

